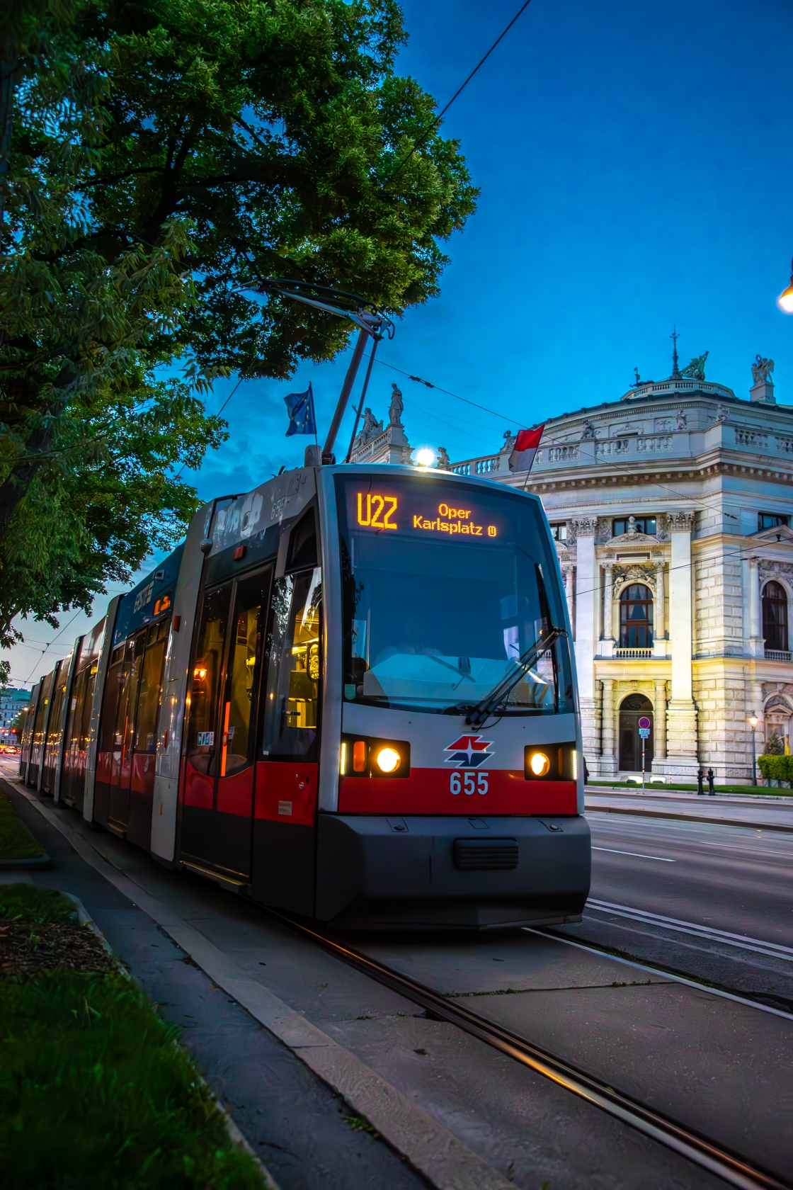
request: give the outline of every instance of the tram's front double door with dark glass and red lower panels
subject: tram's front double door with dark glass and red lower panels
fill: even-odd
[[[251,875],[257,703],[272,566],[208,590],[193,666],[182,858]]]

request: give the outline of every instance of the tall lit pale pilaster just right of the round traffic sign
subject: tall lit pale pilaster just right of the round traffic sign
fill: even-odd
[[[697,754],[697,708],[692,697],[693,574],[691,530],[694,513],[669,513],[669,624],[672,626],[672,697],[667,708],[667,757],[662,771],[693,779]],[[660,766],[661,768],[661,766]]]

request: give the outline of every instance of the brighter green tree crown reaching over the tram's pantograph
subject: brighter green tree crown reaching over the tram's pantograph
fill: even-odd
[[[77,27],[112,63],[89,242],[113,259],[193,220],[202,367],[285,377],[346,344],[339,319],[239,292],[262,276],[396,312],[439,292],[477,192],[432,96],[394,73],[395,0],[94,0]]]

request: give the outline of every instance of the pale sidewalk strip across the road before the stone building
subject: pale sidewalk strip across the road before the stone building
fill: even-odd
[[[793,833],[793,797],[688,794],[681,790],[604,790],[586,787],[587,813],[631,814],[637,818],[680,819],[712,822],[718,826],[743,826],[757,831]]]

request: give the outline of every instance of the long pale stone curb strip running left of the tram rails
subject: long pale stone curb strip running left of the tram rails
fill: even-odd
[[[264,984],[252,979],[195,926],[176,917],[141,885],[114,868],[92,844],[27,790],[23,796],[69,841],[77,854],[155,921],[218,987],[365,1119],[383,1140],[436,1190],[515,1190],[514,1183],[454,1133],[345,1050]],[[253,1155],[257,1155],[256,1153]],[[275,1188],[275,1183],[273,1183]],[[275,1188],[277,1190],[277,1188]]]

